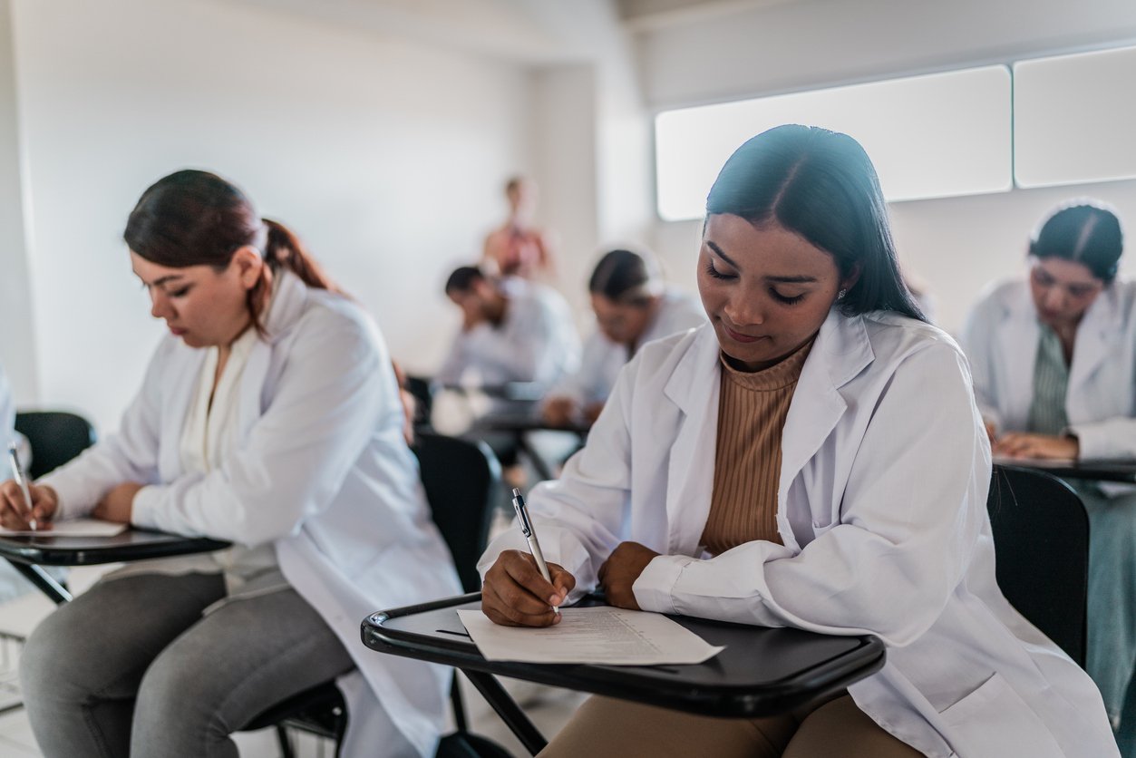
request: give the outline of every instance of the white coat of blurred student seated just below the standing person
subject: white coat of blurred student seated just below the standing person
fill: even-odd
[[[548,389],[579,364],[579,335],[568,303],[543,284],[509,278],[500,326],[482,323],[453,338],[434,380],[442,384],[535,382]]]

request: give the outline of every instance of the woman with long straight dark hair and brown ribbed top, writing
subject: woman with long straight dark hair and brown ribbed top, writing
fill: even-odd
[[[552,583],[518,530],[482,560],[500,624],[553,624],[599,585],[623,608],[876,634],[884,668],[752,720],[593,698],[542,756],[1116,755],[1093,682],[995,584],[967,361],[903,286],[886,213],[845,134],[738,148],[707,199],[711,323],[644,345],[532,492]]]

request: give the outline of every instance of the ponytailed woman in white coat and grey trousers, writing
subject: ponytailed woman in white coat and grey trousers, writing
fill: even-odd
[[[459,589],[374,322],[212,174],[158,181],[124,236],[169,334],[120,431],[32,488],[34,516],[235,544],[128,565],[35,630],[20,682],[40,749],[235,756],[231,732],[351,674],[344,755],[433,755],[449,674],[359,643],[375,609]],[[0,485],[6,526],[28,517],[17,492]]]

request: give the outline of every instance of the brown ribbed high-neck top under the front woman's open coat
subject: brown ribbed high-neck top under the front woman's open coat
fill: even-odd
[[[710,516],[702,544],[712,555],[777,533],[780,440],[788,405],[801,377],[810,340],[776,366],[746,373],[721,361],[718,448],[713,466]]]

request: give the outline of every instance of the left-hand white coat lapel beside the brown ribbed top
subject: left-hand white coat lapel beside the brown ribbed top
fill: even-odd
[[[710,513],[718,445],[718,338],[710,326],[695,335],[663,388],[682,411],[667,465],[668,552],[698,556]]]

